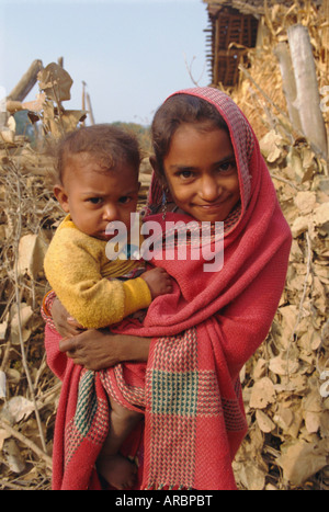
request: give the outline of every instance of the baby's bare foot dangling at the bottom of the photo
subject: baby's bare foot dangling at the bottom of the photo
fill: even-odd
[[[102,455],[97,466],[102,477],[115,489],[132,489],[136,483],[137,467],[121,454]]]

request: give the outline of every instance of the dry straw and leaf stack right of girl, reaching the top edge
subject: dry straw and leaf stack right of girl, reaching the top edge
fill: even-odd
[[[329,4],[328,4],[329,5]],[[329,177],[287,116],[279,43],[307,26],[319,88],[328,86],[329,26],[311,2],[275,4],[268,37],[241,68],[234,99],[260,138],[293,246],[286,286],[265,343],[247,364],[249,434],[235,462],[242,489],[329,489]],[[329,128],[328,95],[322,114]]]

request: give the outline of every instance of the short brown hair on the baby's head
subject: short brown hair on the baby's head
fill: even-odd
[[[78,128],[66,135],[59,141],[56,155],[57,179],[60,182],[68,158],[81,152],[94,157],[104,171],[127,163],[138,175],[140,152],[137,138],[116,126],[97,124]]]

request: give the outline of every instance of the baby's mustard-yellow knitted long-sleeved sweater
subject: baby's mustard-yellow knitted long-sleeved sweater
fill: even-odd
[[[109,260],[106,243],[80,231],[68,215],[57,228],[44,261],[46,277],[60,303],[88,329],[116,323],[151,301],[141,277],[114,278],[140,268],[143,262]]]

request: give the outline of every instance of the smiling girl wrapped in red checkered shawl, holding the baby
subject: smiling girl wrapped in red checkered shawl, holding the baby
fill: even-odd
[[[163,243],[152,264],[174,278],[173,292],[150,305],[141,328],[126,321],[111,333],[86,331],[63,341],[59,352],[58,334],[46,327],[48,362],[64,379],[54,445],[57,489],[100,486],[92,464],[84,471],[80,466],[97,459],[106,435],[105,390],[145,411],[144,430],[125,444],[125,453],[138,458],[138,489],[236,489],[231,462],[247,431],[239,372],[271,327],[291,232],[257,138],[229,96],[213,88],[173,94],[156,113],[152,139],[145,220],[161,226],[163,240],[169,221],[207,221],[214,237],[215,223],[224,221],[224,266],[205,272],[202,258],[189,258],[189,251],[185,261],[166,258]],[[66,334],[77,334],[57,301],[52,315],[59,330],[63,325]],[[145,382],[132,361],[147,361]],[[82,367],[111,368],[97,372],[94,392],[84,394],[94,413],[78,436],[72,425]]]

